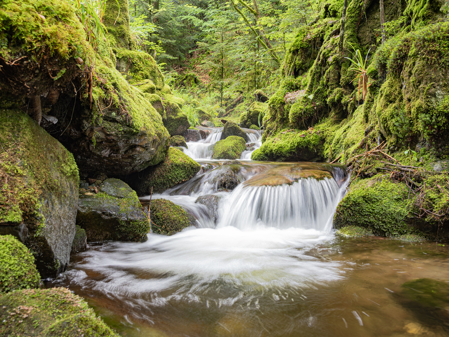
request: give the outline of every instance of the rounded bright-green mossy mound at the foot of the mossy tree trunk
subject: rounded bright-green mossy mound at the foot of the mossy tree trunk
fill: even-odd
[[[155,85],[154,92],[151,93],[155,93],[156,89],[161,90],[164,88],[164,76],[150,54],[137,50],[119,49],[116,57],[118,62],[117,68],[129,80],[135,83],[150,80]],[[152,88],[150,82],[145,83],[145,89]]]

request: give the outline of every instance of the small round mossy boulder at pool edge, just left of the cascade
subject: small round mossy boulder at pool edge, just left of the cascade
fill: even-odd
[[[162,235],[173,235],[196,223],[184,208],[166,199],[151,201],[151,221],[153,233]]]

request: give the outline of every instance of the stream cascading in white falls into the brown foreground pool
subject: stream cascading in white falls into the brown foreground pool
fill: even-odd
[[[410,302],[403,286],[421,278],[449,284],[445,246],[335,235],[348,183],[342,166],[254,162],[252,151],[241,164],[211,160],[208,146],[221,130],[187,143],[185,154],[202,166],[196,176],[152,196],[185,208],[196,227],[149,234],[145,243],[89,244],[47,286],[84,297],[123,336],[449,334],[447,310]],[[261,132],[244,130],[260,147]],[[238,179],[232,191],[217,186],[225,170]],[[220,198],[216,217],[195,203],[208,194]]]

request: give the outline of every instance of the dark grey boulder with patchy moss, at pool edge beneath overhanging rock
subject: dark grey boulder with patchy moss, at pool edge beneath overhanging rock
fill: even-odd
[[[86,231],[88,241],[143,242],[150,232],[136,192],[115,178],[106,179],[98,193],[79,198],[76,224]]]

